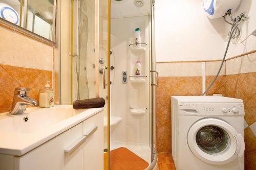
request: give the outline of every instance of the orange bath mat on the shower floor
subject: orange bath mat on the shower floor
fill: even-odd
[[[127,148],[110,151],[110,170],[144,170],[147,166],[144,159]]]

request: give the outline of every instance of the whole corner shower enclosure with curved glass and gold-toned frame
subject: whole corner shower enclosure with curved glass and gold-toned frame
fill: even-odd
[[[60,9],[59,103],[105,99],[105,167],[116,166],[112,151],[126,148],[146,162],[145,169],[154,169],[154,1],[71,0],[61,1]],[[134,38],[136,28],[141,44]]]

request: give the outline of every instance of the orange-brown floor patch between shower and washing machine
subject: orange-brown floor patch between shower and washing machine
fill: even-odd
[[[176,170],[172,154],[170,153],[158,154],[158,169],[159,170]]]

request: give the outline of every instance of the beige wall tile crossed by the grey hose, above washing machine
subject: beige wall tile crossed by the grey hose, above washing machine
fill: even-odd
[[[219,69],[221,66],[221,61],[210,61],[210,62],[206,62],[206,67],[205,67],[205,71],[206,71],[206,76],[215,76],[217,75]],[[224,62],[221,72],[220,72],[220,76],[225,75],[225,71],[226,70],[226,64]]]

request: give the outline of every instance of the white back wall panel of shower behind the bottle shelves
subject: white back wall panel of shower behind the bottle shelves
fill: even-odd
[[[111,19],[111,116],[122,118],[111,132],[111,141],[150,143],[150,84],[149,84],[149,47],[145,52],[134,54],[129,44],[135,42],[136,28],[141,30],[141,41],[148,44],[148,16]],[[141,76],[146,82],[134,83],[135,64],[140,60]],[[127,71],[127,84],[122,82],[122,71]],[[134,115],[131,108],[147,108],[144,115]]]

